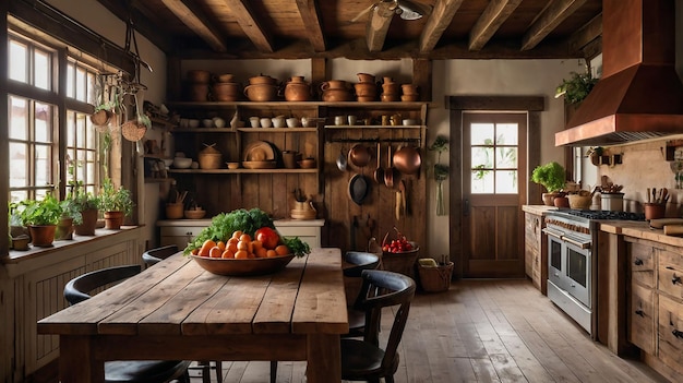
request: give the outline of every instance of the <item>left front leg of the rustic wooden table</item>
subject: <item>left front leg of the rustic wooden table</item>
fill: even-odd
[[[70,383],[104,383],[105,362],[94,358],[92,338],[61,335],[59,337],[59,378]]]

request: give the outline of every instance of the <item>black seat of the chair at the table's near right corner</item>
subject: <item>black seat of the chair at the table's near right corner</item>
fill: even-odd
[[[398,369],[398,354],[391,371],[382,369],[384,350],[360,339],[342,339],[342,379],[357,381],[391,375]]]

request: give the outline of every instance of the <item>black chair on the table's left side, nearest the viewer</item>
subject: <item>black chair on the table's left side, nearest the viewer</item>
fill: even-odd
[[[91,298],[91,292],[104,289],[133,275],[140,274],[140,265],[101,268],[77,276],[64,287],[69,304]],[[105,362],[105,382],[165,383],[177,380],[190,383],[189,361],[185,360],[115,360]]]

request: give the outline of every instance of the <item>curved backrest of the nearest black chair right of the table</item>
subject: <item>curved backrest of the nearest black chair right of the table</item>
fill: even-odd
[[[366,270],[361,277],[363,298],[358,304],[366,311],[364,342],[379,345],[382,308],[398,306],[382,360],[383,368],[394,370],[392,364],[398,363],[396,351],[408,321],[410,302],[415,296],[415,280],[403,274],[381,270]]]

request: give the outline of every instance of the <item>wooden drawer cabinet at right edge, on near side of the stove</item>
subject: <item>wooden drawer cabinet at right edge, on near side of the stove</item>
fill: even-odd
[[[630,237],[625,241],[628,342],[673,380],[683,373],[683,249]]]

